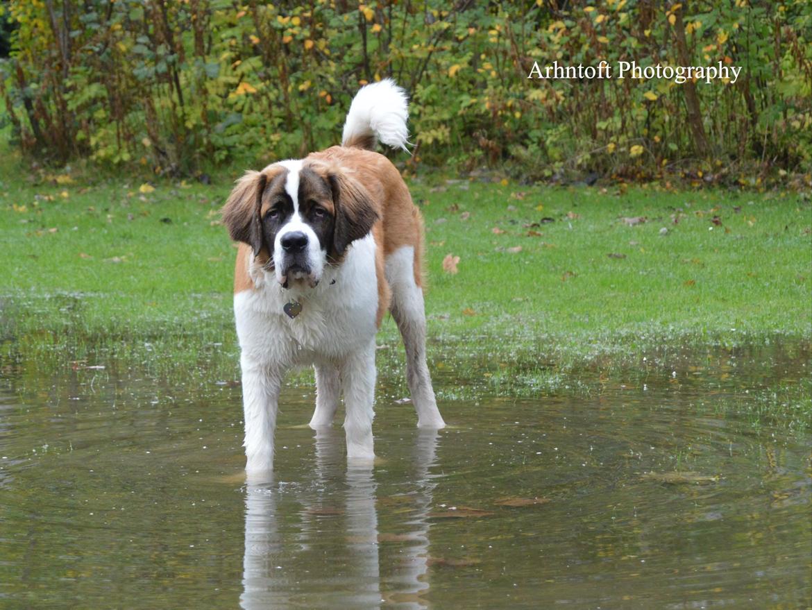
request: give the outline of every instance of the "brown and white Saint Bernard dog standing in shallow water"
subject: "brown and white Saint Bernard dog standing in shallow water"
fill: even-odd
[[[408,144],[408,102],[392,80],[352,100],[340,146],[248,171],[222,210],[240,242],[234,311],[240,340],[246,472],[269,474],[283,375],[316,371],[310,427],[330,426],[343,392],[347,456],[374,459],[375,334],[387,310],[406,348],[417,426],[442,428],[425,362],[423,222],[376,141]]]

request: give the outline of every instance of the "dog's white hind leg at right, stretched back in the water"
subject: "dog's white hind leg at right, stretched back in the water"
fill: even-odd
[[[387,259],[387,281],[392,289],[390,311],[406,348],[406,381],[417,411],[417,426],[443,428],[429,367],[425,363],[425,305],[423,289],[415,281],[414,248],[404,246]]]

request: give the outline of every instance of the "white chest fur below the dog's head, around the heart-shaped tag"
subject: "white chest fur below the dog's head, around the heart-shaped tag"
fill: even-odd
[[[368,345],[377,330],[378,281],[371,235],[356,240],[343,263],[326,269],[316,288],[284,289],[273,273],[256,265],[250,273],[256,288],[234,296],[243,357],[283,367],[341,359]],[[284,313],[289,301],[301,304],[296,318]]]

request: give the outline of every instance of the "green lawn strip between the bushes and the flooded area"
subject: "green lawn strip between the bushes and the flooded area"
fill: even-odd
[[[2,175],[7,353],[56,363],[102,349],[170,374],[234,374],[235,249],[217,213],[229,179],[158,180],[151,190],[127,174],[32,171],[11,154]],[[476,381],[447,388],[449,397],[482,384],[507,394],[577,389],[572,370],[645,374],[685,346],[812,337],[803,194],[437,177],[410,187],[425,216],[433,366]],[[456,274],[443,270],[448,254],[460,257]],[[380,360],[400,383],[391,320],[379,343],[392,347]]]

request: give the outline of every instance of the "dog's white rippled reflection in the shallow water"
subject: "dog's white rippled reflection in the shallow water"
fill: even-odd
[[[245,494],[245,610],[426,608],[432,482],[439,433],[417,430],[404,478],[413,510],[378,544],[374,466],[348,463],[339,430],[316,432],[309,481],[248,481]],[[386,540],[386,539],[385,539]]]

